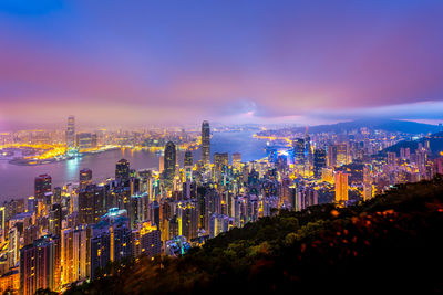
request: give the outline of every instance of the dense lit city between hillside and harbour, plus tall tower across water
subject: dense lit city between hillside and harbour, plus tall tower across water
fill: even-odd
[[[404,135],[369,128],[312,137],[308,130],[257,135],[268,140],[268,157],[248,162],[239,152],[212,154],[210,137],[204,122],[197,161],[189,148],[178,162],[182,143],[169,140],[162,146],[158,170],[134,170],[121,159],[115,177],[101,183],[93,183],[87,168],[78,183],[63,187],[53,188],[49,175],[35,177],[32,197],[0,208],[0,289],[62,292],[105,276],[110,263],[179,256],[279,210],[348,207],[398,183],[443,173],[443,158],[429,140],[414,150],[385,151]],[[66,152],[92,144],[96,138],[75,134],[70,117]]]

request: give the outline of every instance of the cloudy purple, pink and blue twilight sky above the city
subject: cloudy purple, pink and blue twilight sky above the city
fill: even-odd
[[[443,1],[0,1],[0,129],[443,120]]]

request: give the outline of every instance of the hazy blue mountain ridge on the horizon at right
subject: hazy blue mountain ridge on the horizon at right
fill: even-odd
[[[439,126],[436,125],[422,124],[416,122],[406,122],[406,120],[374,118],[374,119],[358,119],[358,120],[343,122],[331,125],[310,126],[309,134],[347,133],[354,129],[360,129],[362,127],[385,130],[385,131],[393,131],[393,133],[405,133],[405,134],[429,134],[429,133],[440,131]],[[286,133],[286,131],[303,133],[305,127],[267,130],[267,131],[261,131],[259,135],[270,135],[272,133]]]

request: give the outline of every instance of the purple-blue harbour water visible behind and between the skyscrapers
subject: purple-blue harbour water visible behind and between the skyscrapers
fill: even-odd
[[[215,133],[212,138],[212,154],[241,152],[243,160],[249,161],[266,156],[266,141],[253,138],[251,131]],[[178,152],[178,162],[183,165],[184,152]],[[92,169],[93,180],[102,181],[115,175],[115,164],[121,158],[130,161],[132,169],[158,169],[159,155],[147,150],[132,151],[131,149],[107,150],[82,158],[51,162],[38,166],[18,166],[7,160],[0,161],[0,201],[27,198],[33,194],[34,178],[41,173],[52,177],[52,187],[79,181],[79,171]],[[200,150],[194,151],[194,159],[199,160]]]

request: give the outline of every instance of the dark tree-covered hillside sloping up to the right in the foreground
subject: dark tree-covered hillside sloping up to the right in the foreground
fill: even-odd
[[[110,267],[66,294],[418,294],[443,291],[443,179],[350,208],[281,212],[181,259]]]

